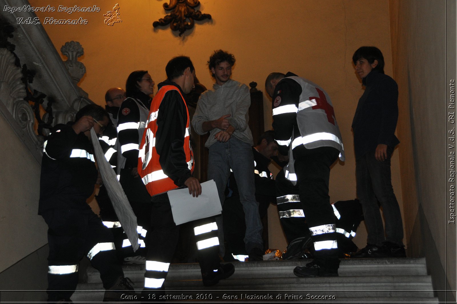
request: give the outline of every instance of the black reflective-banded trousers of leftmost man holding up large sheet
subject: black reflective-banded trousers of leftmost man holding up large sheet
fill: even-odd
[[[48,224],[48,297],[69,299],[78,284],[78,265],[87,255],[100,271],[104,288],[123,277],[111,231],[91,209],[55,209],[43,212]],[[69,266],[69,267],[62,267]]]

